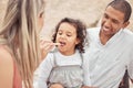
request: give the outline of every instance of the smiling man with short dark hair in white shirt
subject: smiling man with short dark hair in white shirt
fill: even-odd
[[[127,1],[113,0],[104,11],[101,28],[88,30],[90,45],[83,55],[85,86],[119,88],[125,70],[133,82],[133,33],[125,29],[131,13]]]

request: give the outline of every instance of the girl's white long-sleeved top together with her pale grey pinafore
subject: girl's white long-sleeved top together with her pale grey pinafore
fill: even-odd
[[[79,86],[83,84],[83,69],[74,68],[73,66],[81,67],[82,58],[79,51],[73,55],[64,56],[60,52],[49,53],[44,61],[37,69],[37,77],[34,78],[34,88],[48,88],[47,81],[50,78],[51,82],[69,84],[70,86]],[[69,68],[60,69],[61,67],[69,66]],[[59,68],[57,68],[59,67]],[[55,68],[55,72],[51,70]],[[51,76],[51,77],[50,77]],[[54,78],[54,79],[53,79]],[[71,88],[71,87],[69,87]]]

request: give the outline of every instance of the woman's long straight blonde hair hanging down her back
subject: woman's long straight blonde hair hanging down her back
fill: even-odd
[[[39,65],[40,51],[37,19],[44,11],[43,0],[9,0],[0,36],[16,58],[24,88],[32,88],[33,72]]]

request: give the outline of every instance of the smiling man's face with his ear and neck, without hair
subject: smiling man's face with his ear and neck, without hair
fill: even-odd
[[[109,6],[103,14],[101,23],[100,40],[105,44],[121,29],[126,28],[129,22],[124,22],[124,13]]]

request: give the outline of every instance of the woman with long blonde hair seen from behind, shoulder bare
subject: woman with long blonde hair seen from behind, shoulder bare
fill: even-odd
[[[43,11],[43,0],[8,1],[0,29],[0,88],[32,88]]]

